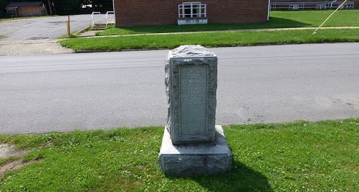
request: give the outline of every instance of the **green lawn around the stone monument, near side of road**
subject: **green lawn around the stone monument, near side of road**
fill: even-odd
[[[225,126],[229,172],[191,178],[158,170],[163,128],[0,136],[37,160],[0,191],[359,191],[359,118]]]

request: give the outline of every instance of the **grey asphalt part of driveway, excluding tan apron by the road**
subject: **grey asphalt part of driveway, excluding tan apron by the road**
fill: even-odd
[[[72,32],[90,25],[90,15],[71,15]],[[0,22],[0,41],[56,39],[67,34],[67,16],[27,18]]]

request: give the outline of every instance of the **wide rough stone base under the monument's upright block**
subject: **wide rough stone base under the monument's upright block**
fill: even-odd
[[[160,169],[173,176],[193,176],[226,172],[232,163],[221,125],[216,125],[215,144],[173,145],[167,129],[159,155]]]

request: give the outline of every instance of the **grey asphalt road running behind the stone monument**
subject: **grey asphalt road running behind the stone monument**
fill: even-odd
[[[359,43],[212,48],[217,123],[359,116]],[[165,125],[168,50],[0,57],[0,134]]]

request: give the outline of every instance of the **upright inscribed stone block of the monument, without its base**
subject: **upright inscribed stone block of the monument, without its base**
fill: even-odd
[[[203,46],[180,46],[165,63],[172,143],[215,142],[217,56]]]

